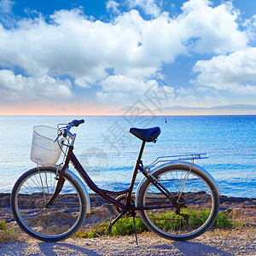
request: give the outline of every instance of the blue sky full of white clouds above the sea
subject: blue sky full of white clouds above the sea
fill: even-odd
[[[0,114],[255,105],[255,46],[255,0],[0,0]]]

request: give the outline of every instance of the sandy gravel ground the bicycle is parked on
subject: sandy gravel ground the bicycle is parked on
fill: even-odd
[[[191,241],[169,241],[154,234],[69,238],[43,242],[32,238],[0,244],[0,255],[255,255],[255,228],[206,233]]]

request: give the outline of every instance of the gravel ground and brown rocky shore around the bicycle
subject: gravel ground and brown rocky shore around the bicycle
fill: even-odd
[[[91,214],[85,226],[96,228],[112,218],[111,206],[91,195]],[[43,242],[20,232],[19,241],[0,244],[0,255],[256,255],[256,199],[222,196],[220,210],[246,224],[236,230],[209,230],[190,241],[169,241],[153,233],[135,236],[69,238]],[[9,209],[9,194],[0,194],[0,220],[15,227]],[[16,226],[17,228],[17,226]]]

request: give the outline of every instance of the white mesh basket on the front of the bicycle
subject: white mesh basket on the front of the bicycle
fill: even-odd
[[[56,137],[57,129],[44,125],[35,126],[30,159],[39,166],[54,166],[60,158],[62,142],[65,140],[61,137],[58,142],[55,142]]]

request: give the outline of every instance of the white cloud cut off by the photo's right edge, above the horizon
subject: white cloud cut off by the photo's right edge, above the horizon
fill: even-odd
[[[256,48],[197,61],[193,70],[200,73],[194,81],[196,84],[238,94],[256,94]]]

